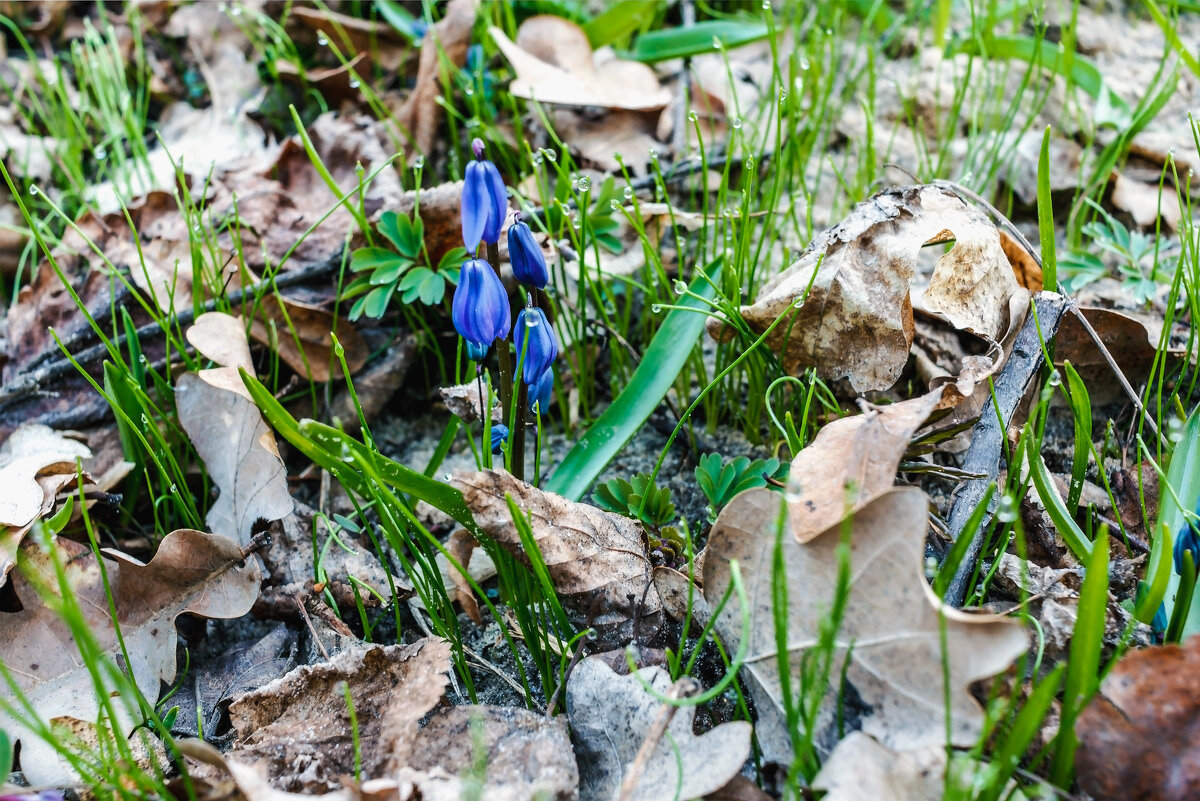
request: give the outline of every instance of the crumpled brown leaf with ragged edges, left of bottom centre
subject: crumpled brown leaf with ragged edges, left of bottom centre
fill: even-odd
[[[355,760],[344,682],[359,722],[362,775],[383,776],[403,765],[418,721],[445,692],[449,669],[450,644],[436,637],[364,645],[299,667],[229,704],[238,741],[228,755],[265,761],[284,790],[338,788]]]

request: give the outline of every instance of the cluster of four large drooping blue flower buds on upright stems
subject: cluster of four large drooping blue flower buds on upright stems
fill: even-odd
[[[484,158],[482,140],[475,139],[472,149],[475,161],[467,165],[462,187],[462,241],[472,258],[462,265],[451,317],[467,343],[467,355],[481,362],[492,345],[505,341],[511,330],[509,296],[500,283],[498,266],[479,258],[482,243],[488,246],[488,255],[494,259],[508,213],[508,189],[496,164]],[[509,260],[512,275],[522,284],[534,290],[546,288],[550,281],[546,257],[529,224],[520,218],[509,227]],[[530,307],[517,315],[512,335],[521,380],[528,387],[529,409],[545,410],[553,393],[553,362],[558,357],[554,330],[540,308]]]

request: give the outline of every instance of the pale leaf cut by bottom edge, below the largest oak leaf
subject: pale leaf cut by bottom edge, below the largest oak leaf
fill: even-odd
[[[824,801],[941,801],[946,793],[946,748],[895,752],[852,731],[838,743],[812,788]]]

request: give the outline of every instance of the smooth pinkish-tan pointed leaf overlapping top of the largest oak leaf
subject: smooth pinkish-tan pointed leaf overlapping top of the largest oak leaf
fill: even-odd
[[[787,477],[787,520],[797,542],[812,540],[889,490],[913,432],[941,399],[942,391],[935,390],[822,428],[792,459]]]

